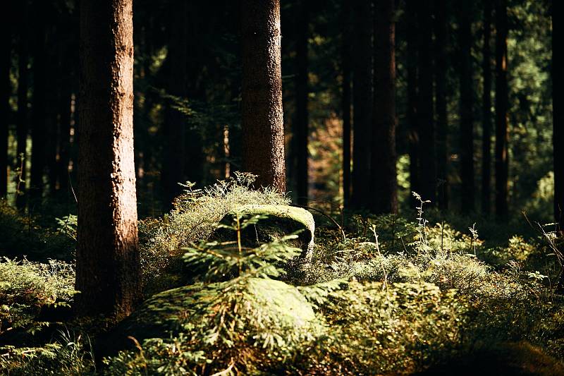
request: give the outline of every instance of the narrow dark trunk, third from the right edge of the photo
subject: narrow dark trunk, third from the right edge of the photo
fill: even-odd
[[[484,47],[482,73],[482,213],[491,212],[491,1],[484,1]]]

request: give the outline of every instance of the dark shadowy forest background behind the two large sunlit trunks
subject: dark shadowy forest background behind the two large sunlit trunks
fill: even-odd
[[[235,3],[134,4],[140,217],[168,209],[181,192],[178,182],[205,186],[242,169]],[[527,210],[548,221],[553,195],[548,2],[504,4],[506,192],[495,188],[501,174],[496,132],[503,128],[496,95],[505,97],[496,92],[502,89],[497,89],[496,27],[503,21],[488,1],[427,5],[399,1],[394,16],[400,210],[413,207],[409,198],[415,190],[455,212],[503,218],[508,211],[520,221],[520,212]],[[369,166],[354,156],[379,148],[370,141],[370,12],[354,1],[281,4],[287,190],[296,202],[307,197],[359,208],[365,201],[361,186],[369,184],[362,176],[369,175]],[[1,190],[11,205],[18,201],[18,207],[35,212],[42,205],[72,207],[80,137],[75,134],[78,9],[73,1],[17,1],[6,16],[2,137],[7,150],[1,164],[7,178]],[[359,144],[353,143],[353,152],[343,147],[349,139]],[[361,170],[356,180],[355,165]],[[508,209],[495,200],[507,201]]]

